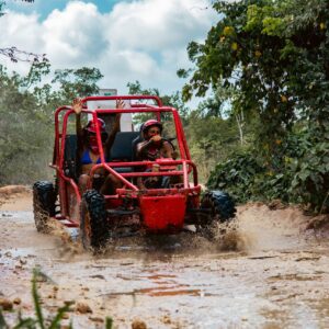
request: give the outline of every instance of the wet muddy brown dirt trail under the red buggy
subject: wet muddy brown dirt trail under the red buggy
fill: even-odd
[[[73,300],[64,324],[75,328],[103,328],[105,316],[115,328],[329,327],[328,229],[306,230],[310,218],[296,207],[239,207],[237,229],[215,242],[140,237],[95,257],[63,230],[37,234],[31,200],[29,190],[0,189],[0,300],[20,298],[24,315],[38,266],[44,311]]]

